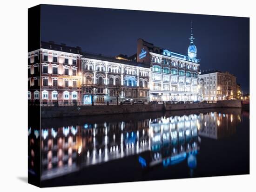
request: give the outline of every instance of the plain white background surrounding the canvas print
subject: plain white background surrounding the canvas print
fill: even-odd
[[[2,1],[1,18],[1,64],[8,64],[8,70],[2,72],[1,125],[0,139],[1,158],[0,176],[1,191],[39,191],[39,188],[28,185],[27,176],[27,8],[45,4],[92,6],[134,10],[162,11],[175,13],[199,13],[211,15],[250,17],[250,84],[253,85],[252,71],[255,71],[255,34],[256,11],[253,0],[26,0]],[[254,53],[254,54],[253,54]],[[250,86],[250,116],[255,113],[255,88]],[[47,188],[47,191],[253,191],[255,189],[255,119],[250,119],[250,175],[209,177],[200,179],[174,179],[148,182],[132,182],[106,185],[69,186]],[[254,150],[254,152],[253,152]],[[234,167],[235,168],[235,167]],[[109,173],[111,176],[111,173]]]

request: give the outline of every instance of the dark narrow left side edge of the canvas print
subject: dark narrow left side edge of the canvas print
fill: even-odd
[[[40,187],[40,5],[28,9],[28,183]]]

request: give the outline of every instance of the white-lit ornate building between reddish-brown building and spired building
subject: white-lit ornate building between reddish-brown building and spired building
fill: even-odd
[[[145,64],[123,58],[111,58],[102,55],[84,53],[83,70],[83,103],[91,103],[87,85],[97,85],[94,102],[116,102],[115,89],[121,88],[119,102],[125,99],[132,101],[149,101],[150,68]]]

